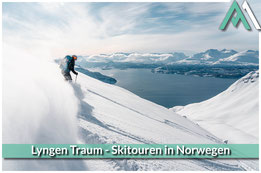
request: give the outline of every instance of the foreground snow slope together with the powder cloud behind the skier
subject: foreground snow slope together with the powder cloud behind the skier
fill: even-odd
[[[83,73],[68,83],[47,55],[4,50],[3,143],[223,143],[123,88]],[[3,170],[258,170],[258,160],[14,159]]]

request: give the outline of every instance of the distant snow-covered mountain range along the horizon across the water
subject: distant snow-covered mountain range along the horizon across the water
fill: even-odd
[[[154,64],[154,65],[258,65],[258,51],[209,49],[205,52],[187,56],[181,52],[174,53],[113,53],[82,56],[79,64],[95,64],[96,66],[111,63]]]

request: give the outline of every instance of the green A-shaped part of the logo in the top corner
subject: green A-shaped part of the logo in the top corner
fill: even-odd
[[[234,17],[235,12],[237,13],[236,17]],[[222,24],[220,25],[219,29],[225,30],[228,22],[230,21],[233,23],[234,27],[237,27],[238,23],[241,21],[247,30],[251,30],[243,12],[241,11],[236,1],[234,1],[231,7],[229,8],[227,15],[223,20]]]

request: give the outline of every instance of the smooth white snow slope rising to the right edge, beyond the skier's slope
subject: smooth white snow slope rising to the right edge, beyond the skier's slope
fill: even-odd
[[[172,108],[229,143],[258,143],[259,71],[201,103]]]

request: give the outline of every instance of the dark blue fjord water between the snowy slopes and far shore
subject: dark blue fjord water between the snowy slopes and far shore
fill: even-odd
[[[226,90],[237,79],[152,73],[150,69],[91,69],[117,80],[115,85],[167,108],[201,102]]]

